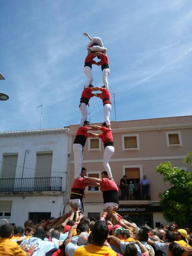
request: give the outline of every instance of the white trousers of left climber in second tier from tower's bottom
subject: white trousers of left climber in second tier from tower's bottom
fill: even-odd
[[[83,164],[83,146],[81,144],[73,144],[75,179],[81,175]]]

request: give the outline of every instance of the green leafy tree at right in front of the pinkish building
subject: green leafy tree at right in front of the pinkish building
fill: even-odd
[[[192,165],[192,153],[189,152],[184,163]],[[164,182],[172,187],[160,193],[160,207],[166,221],[178,224],[192,223],[192,172],[172,167],[170,162],[161,163],[156,172],[163,175]]]

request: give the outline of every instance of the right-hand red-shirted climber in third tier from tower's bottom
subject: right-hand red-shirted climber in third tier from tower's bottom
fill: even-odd
[[[93,90],[100,90],[102,93],[95,93],[94,96],[102,99],[103,106],[104,106],[104,119],[107,124],[107,127],[110,128],[110,112],[111,112],[111,95],[108,89],[105,88],[105,85],[103,87],[93,87]]]

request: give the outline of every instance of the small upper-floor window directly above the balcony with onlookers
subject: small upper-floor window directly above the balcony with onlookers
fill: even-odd
[[[126,150],[140,150],[139,134],[122,135],[123,151]]]

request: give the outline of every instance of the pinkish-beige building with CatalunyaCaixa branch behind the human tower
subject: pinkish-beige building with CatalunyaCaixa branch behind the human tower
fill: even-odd
[[[96,124],[101,125],[101,124]],[[69,152],[70,186],[74,180],[74,161],[72,145],[79,125],[70,125]],[[122,197],[119,186],[119,213],[138,225],[151,227],[166,224],[159,207],[159,192],[170,187],[163,177],[156,173],[155,167],[165,161],[185,171],[190,166],[183,163],[187,152],[192,151],[192,116],[177,116],[133,121],[111,122],[115,153],[110,161],[113,178],[117,185],[123,175],[126,183],[135,180],[132,200],[128,200],[128,189]],[[104,147],[100,139],[88,138],[84,146],[84,167],[88,176],[101,177]],[[137,185],[146,175],[150,181],[147,194]],[[127,186],[128,187],[128,186]],[[138,190],[136,189],[138,188]],[[84,214],[99,217],[103,209],[102,192],[97,187],[87,187],[84,198]],[[122,200],[123,199],[123,200]],[[69,207],[67,207],[69,208]]]

